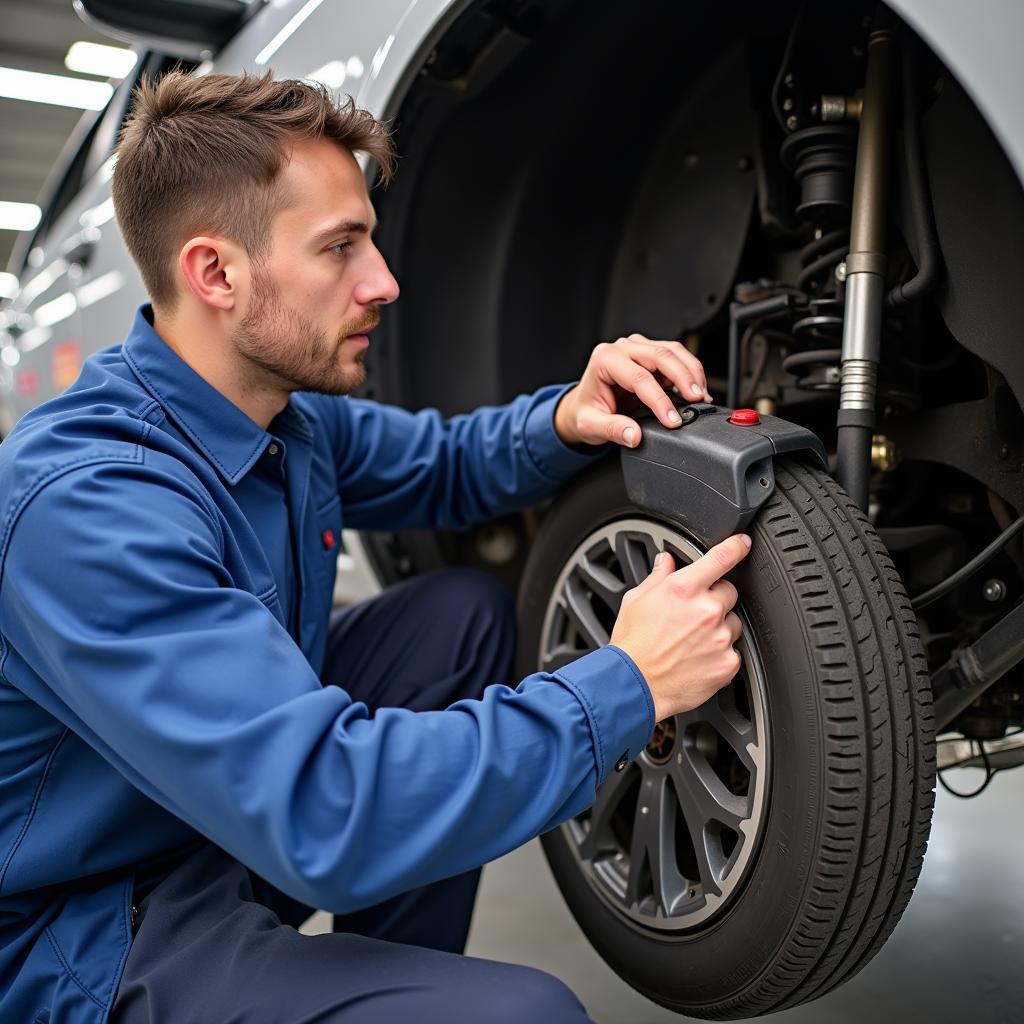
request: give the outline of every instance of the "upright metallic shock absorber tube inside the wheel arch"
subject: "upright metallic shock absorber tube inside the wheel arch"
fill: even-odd
[[[867,75],[853,177],[850,254],[846,258],[842,384],[837,420],[837,476],[862,509],[867,508],[882,310],[886,299],[886,175],[897,47],[891,16],[884,8],[880,8],[867,46]]]

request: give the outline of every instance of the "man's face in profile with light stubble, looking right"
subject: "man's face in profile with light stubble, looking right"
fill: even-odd
[[[269,257],[252,264],[249,304],[231,340],[273,386],[348,394],[366,378],[379,307],[398,297],[371,239],[366,181],[350,153],[321,140],[294,147],[280,184],[286,205],[272,220]]]

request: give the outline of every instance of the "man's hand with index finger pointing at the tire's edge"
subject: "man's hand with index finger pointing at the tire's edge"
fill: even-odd
[[[610,642],[647,680],[656,721],[699,708],[739,671],[736,588],[722,577],[749,551],[746,536],[736,534],[681,569],[664,551],[623,596]]]

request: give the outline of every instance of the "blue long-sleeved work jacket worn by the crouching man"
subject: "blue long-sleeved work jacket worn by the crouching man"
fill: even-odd
[[[553,827],[640,752],[653,705],[615,647],[438,712],[371,716],[318,678],[328,541],[552,494],[592,460],[554,431],[563,391],[449,420],[295,394],[266,431],[142,306],[18,423],[0,445],[0,1021],[104,1021],[134,880],[177,851],[212,841],[345,912]],[[294,563],[267,550],[269,506],[239,501],[271,446]]]

